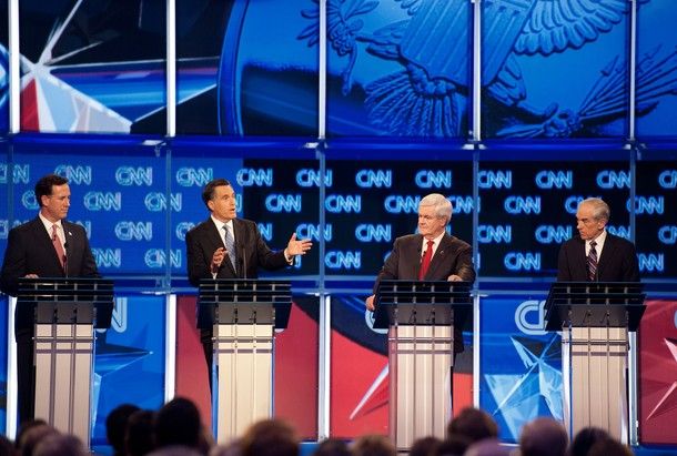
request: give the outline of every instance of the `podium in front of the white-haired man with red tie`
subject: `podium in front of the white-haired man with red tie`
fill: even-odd
[[[454,328],[472,315],[471,284],[382,281],[375,306],[374,327],[388,328],[390,436],[406,453],[420,437],[445,437]]]

